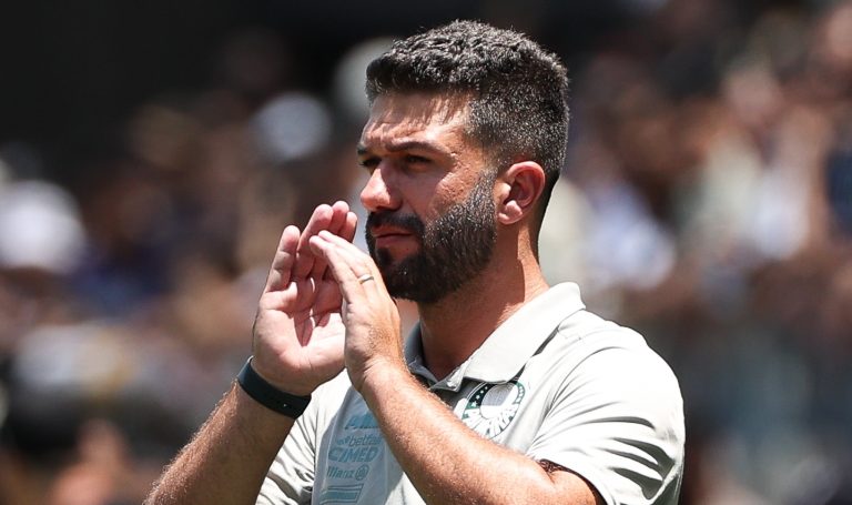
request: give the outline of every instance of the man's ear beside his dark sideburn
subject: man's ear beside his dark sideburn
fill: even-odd
[[[527,215],[545,190],[545,169],[535,161],[521,161],[497,176],[497,220],[515,224]]]

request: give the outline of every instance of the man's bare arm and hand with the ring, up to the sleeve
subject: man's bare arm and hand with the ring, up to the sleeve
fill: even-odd
[[[346,300],[352,384],[426,503],[602,503],[576,474],[487,441],[456,418],[408,373],[398,314],[372,260],[326,233],[312,245],[329,263]],[[374,281],[359,282],[366,273]]]

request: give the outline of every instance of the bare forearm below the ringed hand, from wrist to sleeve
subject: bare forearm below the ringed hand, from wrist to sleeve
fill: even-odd
[[[407,370],[374,367],[361,393],[426,503],[602,504],[576,474],[477,435]]]

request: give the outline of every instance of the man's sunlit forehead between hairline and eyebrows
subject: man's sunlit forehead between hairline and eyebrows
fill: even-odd
[[[458,95],[379,95],[371,108],[362,143],[381,145],[403,138],[462,142],[466,140],[467,103],[465,97]]]

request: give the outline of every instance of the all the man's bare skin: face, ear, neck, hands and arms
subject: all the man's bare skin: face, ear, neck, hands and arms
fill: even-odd
[[[465,135],[465,104],[416,94],[375,101],[358,148],[371,172],[361,194],[368,211],[430,223],[469,195],[487,164]],[[530,232],[544,181],[531,161],[501,168],[491,185],[498,226],[493,259],[458,291],[418,304],[424,357],[436,376],[547,290]],[[257,373],[282,391],[307,394],[345,367],[428,504],[602,503],[577,475],[470,431],[408,372],[398,310],[376,263],[352,244],[354,229],[354,214],[337,202],[317,208],[304,231],[284,231],[255,321]],[[395,261],[422,248],[406,230],[371,232]],[[362,282],[365,274],[373,279]],[[254,503],[293,425],[233,387],[146,503]],[[435,451],[438,440],[442,450]]]

